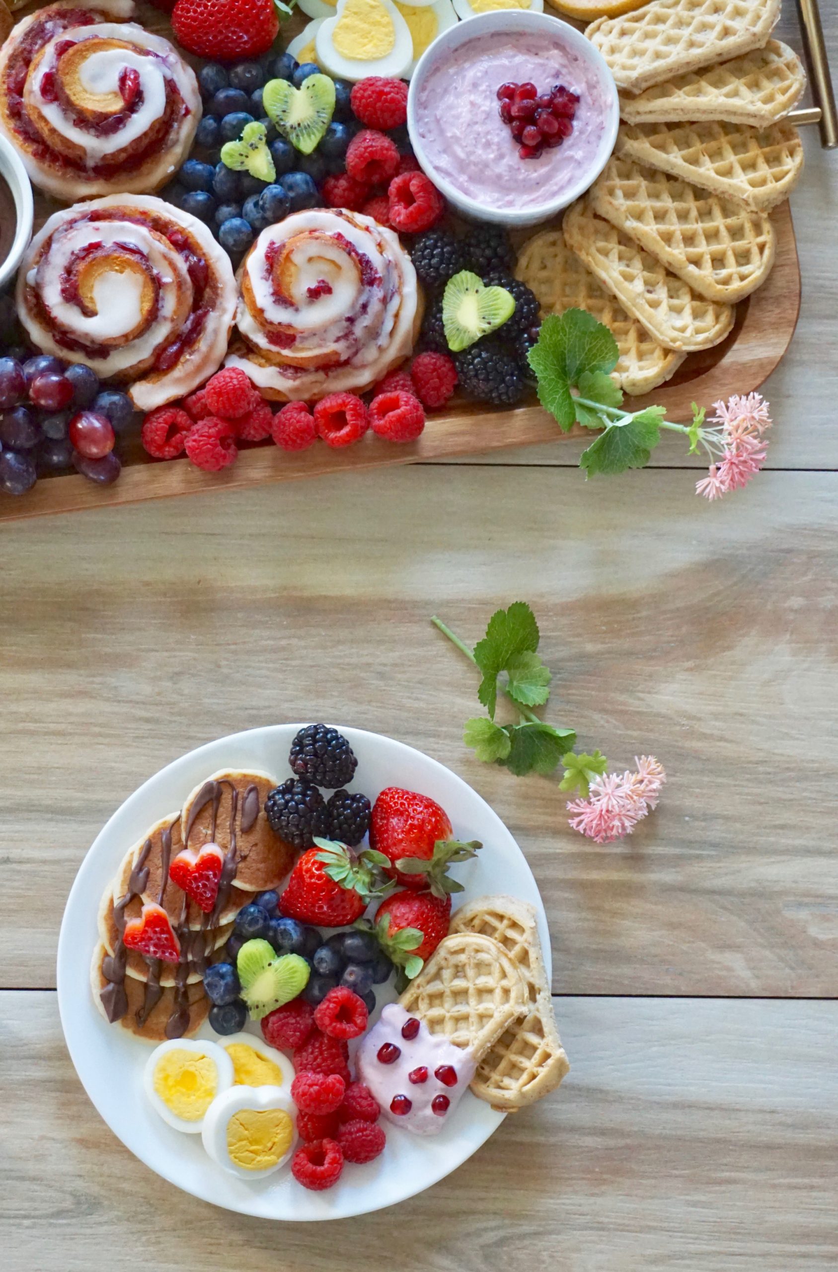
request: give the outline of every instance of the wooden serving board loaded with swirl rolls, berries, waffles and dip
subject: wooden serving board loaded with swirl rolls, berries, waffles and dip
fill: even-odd
[[[17,258],[0,234],[0,519],[552,440],[529,355],[568,308],[635,408],[773,370],[780,0],[298,8],[0,28],[4,221],[36,191]]]

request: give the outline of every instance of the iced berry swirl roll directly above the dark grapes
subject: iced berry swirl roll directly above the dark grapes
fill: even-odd
[[[128,383],[140,411],[217,370],[235,299],[229,257],[206,225],[144,195],[55,212],[18,273],[18,314],[32,342]]]

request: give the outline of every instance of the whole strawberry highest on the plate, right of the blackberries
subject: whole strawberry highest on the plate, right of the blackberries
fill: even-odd
[[[404,888],[430,887],[436,897],[463,890],[446,868],[473,857],[482,845],[462,843],[451,833],[448,813],[427,795],[388,786],[373,805],[370,847],[388,859],[385,874]]]

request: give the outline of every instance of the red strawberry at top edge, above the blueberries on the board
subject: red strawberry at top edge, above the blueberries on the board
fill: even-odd
[[[266,53],[280,22],[273,0],[177,0],[172,27],[191,53],[235,62]]]

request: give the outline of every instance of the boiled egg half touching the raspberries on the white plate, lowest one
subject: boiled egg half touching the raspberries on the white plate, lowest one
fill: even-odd
[[[278,1170],[296,1145],[296,1107],[281,1086],[231,1086],[203,1118],[203,1147],[240,1179]]]

